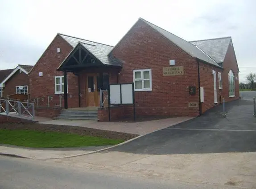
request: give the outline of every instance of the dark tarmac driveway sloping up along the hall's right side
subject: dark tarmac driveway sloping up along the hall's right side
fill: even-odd
[[[198,118],[147,134],[109,151],[134,154],[202,154],[256,151],[253,101],[240,99],[215,106]]]

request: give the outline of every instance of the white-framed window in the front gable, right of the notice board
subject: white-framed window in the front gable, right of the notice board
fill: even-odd
[[[152,91],[151,69],[133,71],[134,91]]]

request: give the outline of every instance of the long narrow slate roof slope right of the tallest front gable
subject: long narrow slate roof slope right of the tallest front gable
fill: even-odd
[[[140,18],[140,20],[144,21],[146,24],[148,24],[154,30],[159,32],[161,35],[165,36],[167,39],[169,39],[171,42],[176,44],[178,47],[182,48],[182,50],[186,51],[192,57],[201,59],[207,63],[211,63],[212,65],[214,65],[216,67],[220,67],[219,64],[215,62],[214,59],[212,59],[202,49],[199,49],[194,44],[189,43],[188,41],[178,37],[177,35],[174,35],[174,34],[168,32],[168,31],[142,19],[142,18]]]

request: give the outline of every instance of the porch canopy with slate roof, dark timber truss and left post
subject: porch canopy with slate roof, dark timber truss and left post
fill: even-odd
[[[64,59],[57,71],[63,71],[64,76],[64,108],[67,108],[67,72],[80,71],[107,71],[109,69],[120,71],[121,61],[108,55],[112,46],[91,41],[78,42],[70,54]]]

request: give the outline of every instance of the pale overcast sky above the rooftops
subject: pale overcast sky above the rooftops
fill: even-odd
[[[231,36],[244,82],[256,72],[255,9],[255,0],[0,0],[0,70],[34,65],[58,32],[114,46],[141,17],[188,41]]]

